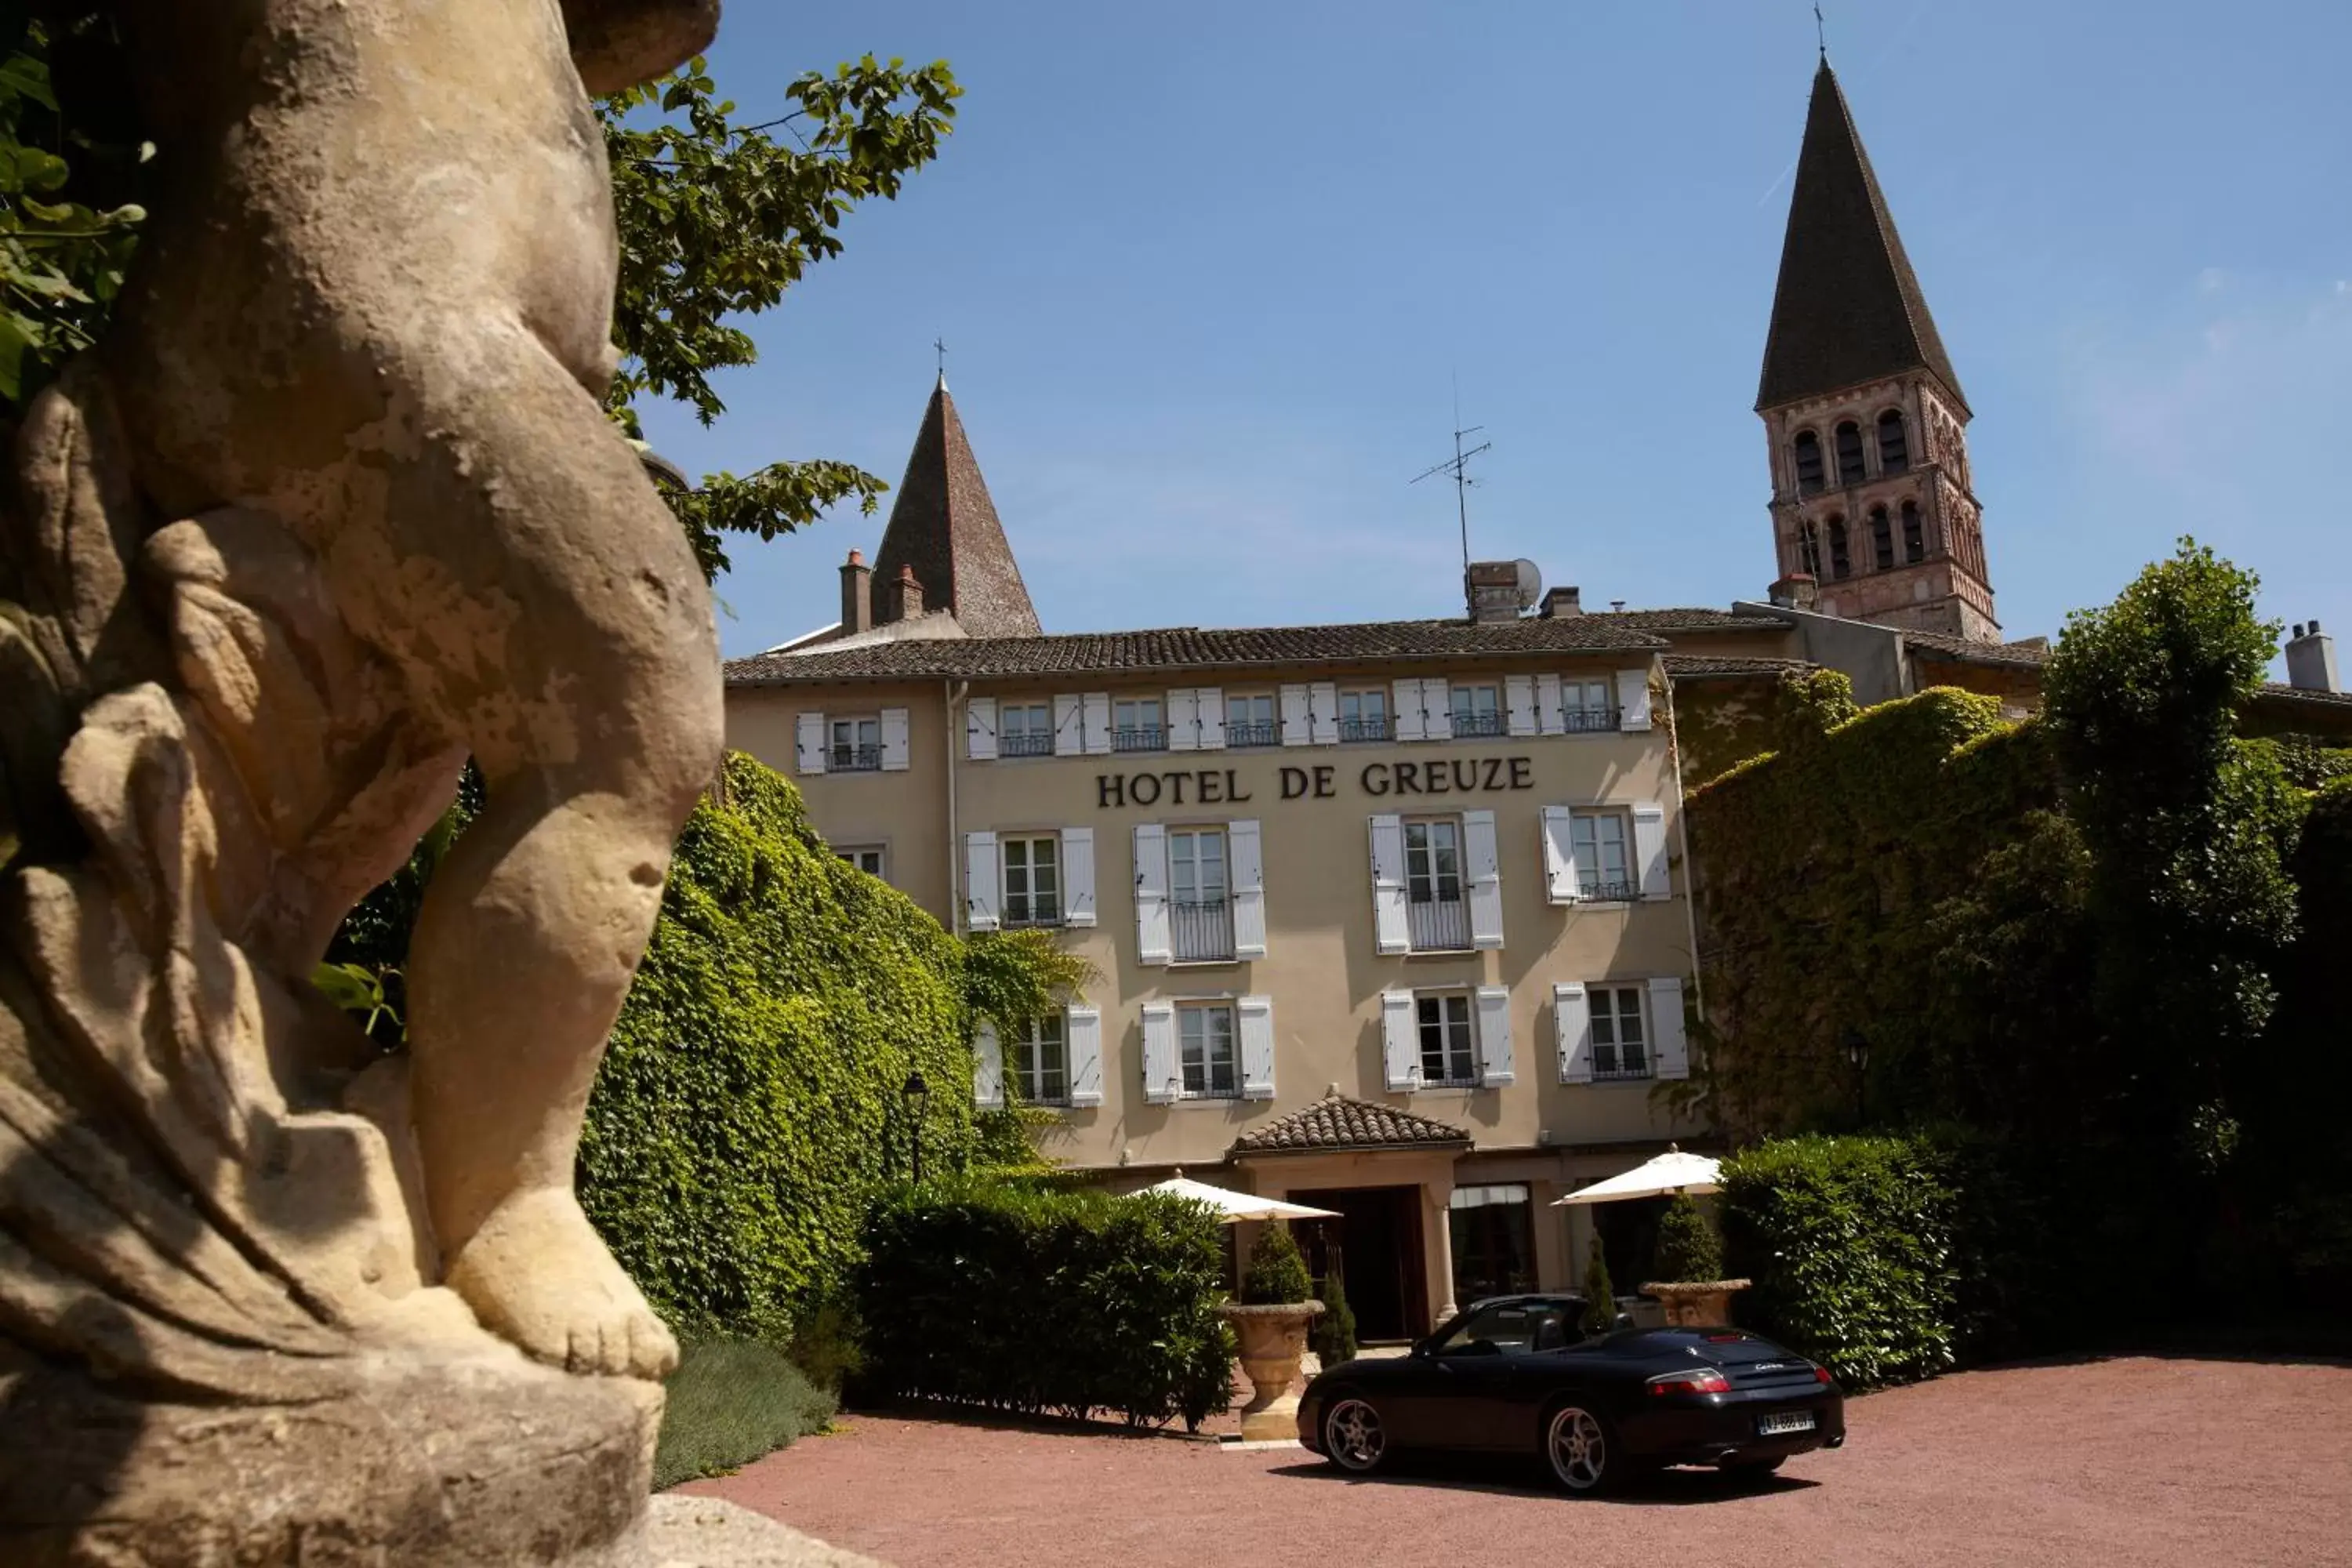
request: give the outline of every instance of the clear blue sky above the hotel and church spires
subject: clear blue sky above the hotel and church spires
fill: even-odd
[[[1844,0],[1830,59],[1969,402],[2004,628],[2192,531],[2352,632],[2352,5]],[[1585,604],[1773,576],[1750,411],[1813,71],[1799,0],[781,7],[748,110],[948,59],[941,160],[757,317],[687,468],[896,484],[931,339],[1047,630],[1458,614],[1479,557]],[[835,618],[884,512],[731,545],[722,642]]]

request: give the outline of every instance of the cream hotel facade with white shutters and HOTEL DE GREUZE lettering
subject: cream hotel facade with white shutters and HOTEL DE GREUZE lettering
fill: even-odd
[[[1616,642],[1049,677],[953,670],[1103,639],[762,656],[729,743],[943,924],[1047,926],[1098,971],[976,1041],[981,1103],[1056,1107],[1047,1152],[1105,1180],[1338,1208],[1392,1338],[1573,1284],[1590,1220],[1550,1201],[1703,1135],[1653,1093],[1698,1001],[1668,684],[1656,639]]]

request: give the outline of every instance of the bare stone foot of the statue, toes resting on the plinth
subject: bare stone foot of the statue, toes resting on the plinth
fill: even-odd
[[[517,1192],[449,1260],[492,1333],[574,1373],[668,1378],[677,1340],[612,1260],[569,1190]]]

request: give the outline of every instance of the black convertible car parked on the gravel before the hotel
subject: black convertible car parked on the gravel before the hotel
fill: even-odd
[[[1588,1340],[1583,1309],[1576,1295],[1498,1295],[1409,1356],[1327,1368],[1298,1401],[1298,1441],[1359,1474],[1406,1448],[1534,1453],[1571,1493],[1658,1465],[1762,1476],[1844,1446],[1828,1368],[1743,1328]]]

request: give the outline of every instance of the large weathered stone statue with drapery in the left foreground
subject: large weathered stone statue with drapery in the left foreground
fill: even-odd
[[[635,1563],[572,1166],[720,679],[586,94],[717,0],[113,9],[169,195],[0,496],[0,1561]],[[379,1058],[308,976],[468,755]]]

